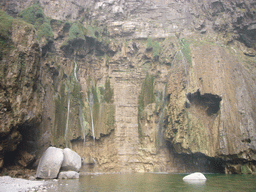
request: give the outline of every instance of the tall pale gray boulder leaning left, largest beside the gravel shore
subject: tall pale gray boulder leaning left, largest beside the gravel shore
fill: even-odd
[[[63,159],[62,149],[49,147],[39,161],[36,177],[42,179],[57,178]]]

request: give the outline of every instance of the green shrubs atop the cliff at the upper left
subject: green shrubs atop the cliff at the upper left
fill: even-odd
[[[39,41],[45,39],[50,40],[53,38],[52,28],[50,25],[50,19],[48,19],[39,4],[34,4],[27,9],[22,10],[19,13],[26,22],[35,26],[37,30],[37,38]]]

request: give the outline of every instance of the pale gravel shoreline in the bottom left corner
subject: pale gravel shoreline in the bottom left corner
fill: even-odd
[[[26,191],[47,191],[51,181],[27,180],[12,178],[10,176],[0,177],[0,192],[26,192]]]

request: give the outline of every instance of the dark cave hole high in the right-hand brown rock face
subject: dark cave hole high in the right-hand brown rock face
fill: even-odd
[[[202,106],[206,109],[207,115],[211,116],[220,110],[220,102],[222,98],[218,95],[205,93],[201,95],[199,89],[195,93],[186,94],[188,102],[185,103],[186,108],[191,105]]]

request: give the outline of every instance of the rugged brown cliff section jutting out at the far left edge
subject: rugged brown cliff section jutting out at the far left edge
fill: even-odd
[[[4,156],[41,122],[40,47],[32,25],[1,14],[0,167]],[[29,130],[31,131],[31,130]],[[31,139],[31,140],[30,140]],[[30,147],[33,146],[30,144]],[[7,161],[12,161],[12,158]]]

